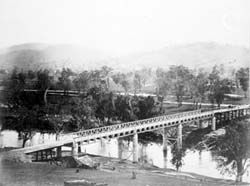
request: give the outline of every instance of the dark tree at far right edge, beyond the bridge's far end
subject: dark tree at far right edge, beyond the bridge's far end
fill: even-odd
[[[247,90],[249,89],[249,68],[240,68],[236,77],[240,82],[242,90],[245,92],[245,97],[247,97]]]

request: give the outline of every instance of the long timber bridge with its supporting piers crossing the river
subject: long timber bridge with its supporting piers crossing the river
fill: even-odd
[[[138,133],[154,130],[163,130],[163,152],[167,150],[167,131],[169,128],[177,128],[177,147],[182,146],[182,127],[195,123],[197,127],[202,127],[204,122],[209,122],[211,129],[216,130],[216,124],[221,121],[229,121],[250,115],[250,105],[240,105],[232,108],[217,109],[202,112],[201,110],[182,112],[171,115],[163,115],[144,120],[121,123],[106,127],[99,127],[89,130],[81,130],[74,133],[64,134],[55,142],[39,144],[31,147],[18,149],[25,154],[35,155],[35,159],[43,160],[48,156],[51,158],[62,156],[62,147],[72,148],[72,156],[78,156],[81,144],[96,142],[101,139],[119,139],[124,136],[133,136],[133,161],[138,161]],[[14,150],[15,151],[15,150]],[[121,158],[121,153],[118,153]]]

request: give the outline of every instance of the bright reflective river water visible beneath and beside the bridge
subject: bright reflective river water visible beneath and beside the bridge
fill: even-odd
[[[26,146],[32,146],[41,144],[46,141],[55,141],[54,134],[41,134],[36,133],[31,140],[27,141]],[[22,139],[18,138],[18,134],[15,131],[2,131],[0,133],[0,148],[3,147],[21,147]],[[67,148],[67,147],[65,147]],[[117,139],[102,140],[96,143],[81,146],[82,152],[103,155],[108,157],[118,157],[118,141]],[[65,149],[66,150],[66,149]],[[69,149],[68,149],[69,150]],[[123,141],[122,158],[132,160],[132,142]],[[162,145],[157,143],[139,144],[139,159],[144,162],[156,165],[160,168],[172,168],[171,159],[172,154],[170,146],[168,147],[167,158],[163,157]],[[217,163],[213,160],[210,151],[190,151],[186,152],[183,157],[183,166],[181,171],[193,172],[205,176],[232,179],[235,180],[235,176],[222,175],[216,168]],[[243,181],[250,182],[249,171],[243,176]]]

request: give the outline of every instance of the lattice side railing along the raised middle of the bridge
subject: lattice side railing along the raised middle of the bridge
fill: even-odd
[[[187,117],[187,116],[193,116],[193,115],[200,114],[200,113],[201,113],[201,110],[195,110],[195,111],[182,112],[182,113],[171,114],[171,115],[163,115],[163,116],[153,117],[153,118],[149,118],[149,119],[126,122],[126,123],[105,126],[105,127],[99,127],[99,128],[89,129],[89,130],[82,130],[79,132],[69,133],[66,135],[71,136],[73,138],[79,137],[79,136],[83,137],[83,136],[89,136],[89,135],[94,135],[94,134],[103,133],[103,132],[121,130],[121,129],[125,129],[125,128],[130,128],[130,127],[132,128],[135,126],[140,126],[140,125],[159,122],[159,121],[165,121],[165,120],[178,119],[178,118]],[[63,138],[63,136],[62,136],[62,138]]]

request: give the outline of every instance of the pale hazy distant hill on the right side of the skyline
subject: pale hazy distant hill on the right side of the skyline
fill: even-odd
[[[141,66],[168,68],[170,65],[211,68],[216,64],[224,64],[228,68],[238,68],[250,64],[250,50],[240,46],[217,43],[193,43],[126,56],[120,58],[119,62],[135,68]]]

